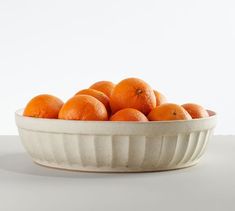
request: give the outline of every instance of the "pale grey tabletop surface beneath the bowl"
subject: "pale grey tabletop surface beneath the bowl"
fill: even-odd
[[[0,136],[0,210],[235,210],[235,136],[215,136],[194,167],[155,173],[67,172],[34,164]]]

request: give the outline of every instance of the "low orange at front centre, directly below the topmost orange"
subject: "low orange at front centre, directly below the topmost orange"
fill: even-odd
[[[147,122],[147,117],[134,108],[124,108],[119,110],[110,118],[111,121],[139,121]]]

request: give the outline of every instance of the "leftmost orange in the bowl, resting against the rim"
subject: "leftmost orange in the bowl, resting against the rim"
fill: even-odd
[[[63,106],[62,100],[59,98],[42,94],[32,98],[24,109],[24,116],[37,118],[58,118],[58,113]]]

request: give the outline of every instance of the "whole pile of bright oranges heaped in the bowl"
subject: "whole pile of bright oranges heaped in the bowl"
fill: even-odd
[[[167,103],[166,97],[138,78],[114,84],[99,81],[63,103],[52,95],[38,95],[26,105],[24,116],[90,121],[164,121],[208,117],[200,105]]]

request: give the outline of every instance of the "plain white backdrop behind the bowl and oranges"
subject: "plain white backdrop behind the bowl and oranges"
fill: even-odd
[[[0,134],[34,95],[140,77],[235,133],[235,1],[0,1]]]

